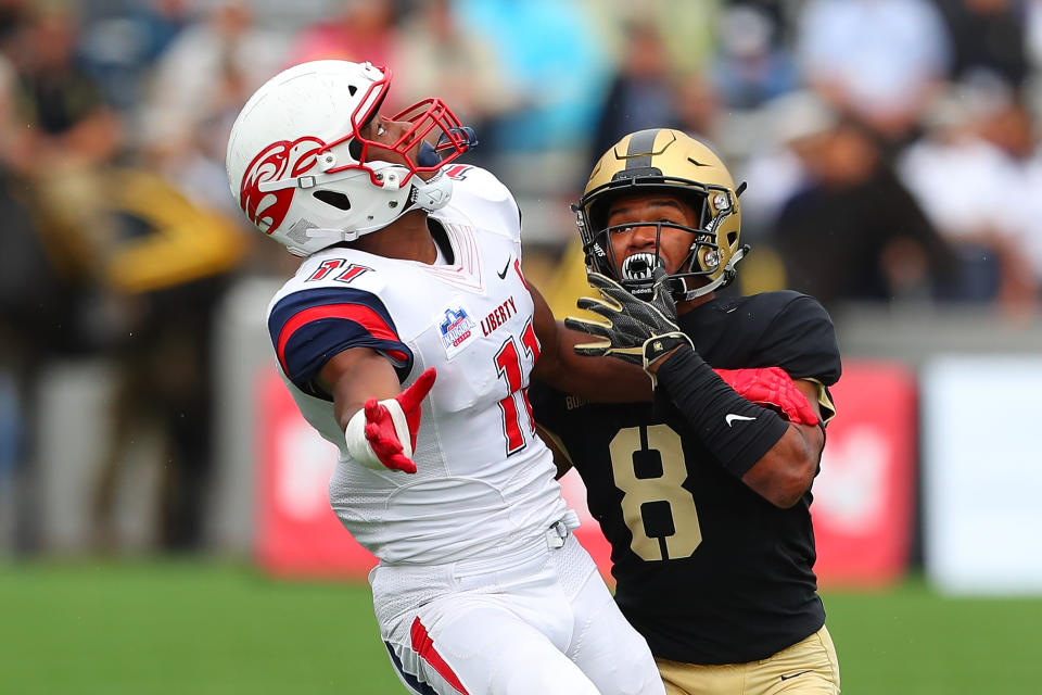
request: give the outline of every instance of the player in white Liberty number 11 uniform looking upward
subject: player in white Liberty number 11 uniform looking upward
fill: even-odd
[[[439,99],[385,117],[391,74],[291,67],[243,108],[228,177],[304,256],[268,327],[301,413],[340,450],[329,484],[370,573],[381,635],[417,694],[664,693],[647,644],[571,531],[535,435],[535,374],[632,400],[644,372],[579,357],[521,273],[520,212]],[[348,675],[350,677],[350,675]]]

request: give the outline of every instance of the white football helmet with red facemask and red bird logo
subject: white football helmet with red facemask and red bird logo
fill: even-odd
[[[243,106],[228,139],[228,184],[246,217],[290,253],[309,255],[448,203],[452,180],[439,169],[476,143],[473,131],[440,99],[425,99],[392,117],[412,124],[397,141],[364,138],[390,86],[391,71],[370,63],[314,61],[279,73]]]

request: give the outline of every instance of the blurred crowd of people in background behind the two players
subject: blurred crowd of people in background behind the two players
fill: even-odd
[[[597,156],[669,126],[748,182],[740,291],[1038,314],[1042,0],[0,0],[0,517],[18,548],[38,538],[15,482],[61,435],[40,375],[85,356],[117,384],[84,490],[94,546],[144,422],[164,433],[156,543],[200,544],[214,308],[296,263],[234,208],[227,135],[265,79],[326,58],[391,67],[387,112],[437,96],[474,127],[466,161],[514,191],[536,277],[574,257],[568,204]]]

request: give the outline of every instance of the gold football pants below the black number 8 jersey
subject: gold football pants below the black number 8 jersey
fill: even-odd
[[[666,695],[837,695],[839,660],[828,630],[760,661],[699,666],[656,659]]]

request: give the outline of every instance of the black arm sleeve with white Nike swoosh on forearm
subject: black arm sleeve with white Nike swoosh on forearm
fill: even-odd
[[[682,346],[658,370],[659,386],[702,443],[736,478],[741,478],[788,430],[767,408],[745,400],[701,356]]]

